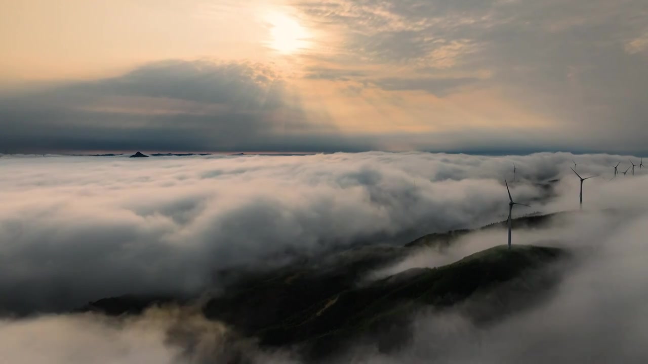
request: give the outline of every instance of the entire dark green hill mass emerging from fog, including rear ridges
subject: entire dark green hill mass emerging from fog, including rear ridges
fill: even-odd
[[[515,219],[515,225],[538,227],[557,215],[526,216]],[[489,324],[538,304],[559,281],[560,271],[551,267],[568,256],[566,251],[502,245],[447,266],[409,269],[358,284],[421,246],[447,246],[470,232],[429,234],[400,246],[356,247],[269,271],[224,272],[218,277],[227,282],[224,293],[203,299],[200,309],[206,319],[222,321],[262,346],[298,347],[305,358],[321,358],[358,339],[372,340],[380,350],[397,349],[408,341],[411,317],[421,310],[461,310],[475,324]],[[136,315],[165,304],[191,302],[126,295],[90,302],[80,311]]]

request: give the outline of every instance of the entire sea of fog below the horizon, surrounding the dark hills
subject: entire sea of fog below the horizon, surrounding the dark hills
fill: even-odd
[[[0,304],[9,312],[57,312],[123,293],[191,293],[218,286],[211,275],[217,269],[278,265],[297,253],[374,241],[404,244],[410,235],[502,221],[502,180],[513,179],[513,162],[511,193],[532,205],[515,207],[515,216],[577,210],[572,159],[581,176],[601,175],[584,183],[583,212],[513,233],[514,244],[573,251],[550,301],[487,328],[460,311],[422,312],[402,351],[379,354],[358,343],[333,361],[645,362],[648,177],[636,168],[634,177],[608,181],[610,165],[629,165],[616,155],[4,156]],[[553,198],[532,184],[557,178]],[[421,249],[369,279],[441,266],[504,242],[503,230],[472,233],[448,251]],[[237,355],[226,348],[238,348],[252,362],[298,362],[290,350],[260,350],[219,323],[187,315],[165,309],[126,321],[87,314],[5,319],[0,358],[184,364],[226,362]],[[178,322],[194,325],[184,331],[191,340],[169,341],[183,337],[172,335]]]

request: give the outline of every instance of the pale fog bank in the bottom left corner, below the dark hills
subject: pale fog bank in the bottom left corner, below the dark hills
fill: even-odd
[[[291,362],[288,354],[263,352],[191,308],[152,308],[124,318],[75,314],[3,319],[0,338],[6,343],[0,348],[2,358],[25,364]]]

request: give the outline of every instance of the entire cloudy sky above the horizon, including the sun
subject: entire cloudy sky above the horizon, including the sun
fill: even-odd
[[[0,152],[642,155],[643,0],[0,4]]]

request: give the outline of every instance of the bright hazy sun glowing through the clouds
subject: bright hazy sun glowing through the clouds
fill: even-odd
[[[268,46],[277,52],[291,54],[308,47],[309,34],[292,17],[281,13],[272,13],[267,17],[270,23],[270,41]]]

